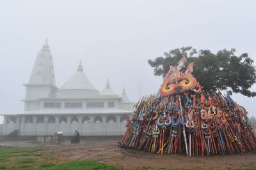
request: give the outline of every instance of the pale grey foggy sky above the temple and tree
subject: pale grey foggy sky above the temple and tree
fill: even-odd
[[[76,72],[81,59],[99,91],[109,78],[116,94],[125,87],[136,102],[162,83],[147,60],[173,48],[236,48],[236,55],[248,52],[256,60],[255,6],[256,1],[234,0],[1,1],[0,114],[24,110],[22,83],[28,83],[46,38],[57,87]],[[232,98],[256,117],[256,97]]]

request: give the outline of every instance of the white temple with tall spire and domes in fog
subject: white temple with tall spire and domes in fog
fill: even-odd
[[[56,87],[47,41],[24,86],[24,112],[4,114],[5,136],[15,131],[20,136],[48,136],[56,131],[70,136],[76,130],[81,136],[120,136],[133,111],[125,90],[118,96],[109,81],[102,92],[95,89],[84,74],[81,61],[76,73],[62,87]]]

